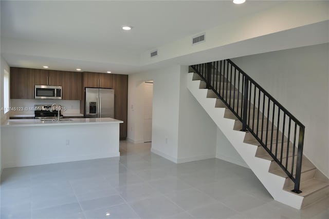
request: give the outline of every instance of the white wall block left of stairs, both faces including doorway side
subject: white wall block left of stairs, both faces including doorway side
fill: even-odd
[[[129,75],[128,140],[143,140],[143,83],[153,81],[151,151],[175,163],[213,158],[216,125],[188,91],[187,66]]]

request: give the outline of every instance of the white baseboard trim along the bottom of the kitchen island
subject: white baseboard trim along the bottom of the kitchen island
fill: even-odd
[[[108,154],[90,154],[84,156],[74,156],[74,157],[54,157],[40,160],[30,160],[23,162],[15,162],[15,163],[7,163],[4,164],[4,168],[11,167],[26,167],[26,166],[34,166],[34,165],[43,165],[43,164],[56,164],[56,163],[64,163],[64,162],[74,162],[74,161],[85,161],[85,160],[94,160],[100,158],[107,157],[118,157],[119,159],[120,152],[112,152]]]

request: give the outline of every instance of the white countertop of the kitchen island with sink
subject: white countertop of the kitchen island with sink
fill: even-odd
[[[108,124],[123,123],[114,118],[71,118],[71,121],[41,121],[39,119],[15,119],[7,120],[1,127],[24,127],[24,126],[63,126],[63,125],[88,125],[88,124]]]

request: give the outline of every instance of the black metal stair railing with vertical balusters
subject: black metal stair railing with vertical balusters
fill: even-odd
[[[295,183],[292,191],[301,193],[305,126],[230,59],[191,67]]]

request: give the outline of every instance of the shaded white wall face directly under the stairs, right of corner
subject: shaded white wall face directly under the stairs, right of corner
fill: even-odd
[[[217,127],[187,89],[188,67],[181,66],[179,91],[178,162],[215,157]]]

